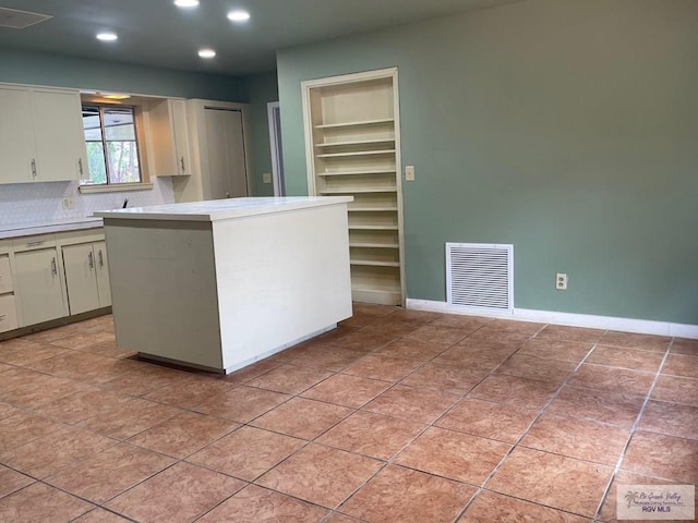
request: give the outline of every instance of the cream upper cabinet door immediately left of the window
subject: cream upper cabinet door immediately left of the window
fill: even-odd
[[[87,168],[80,93],[34,92],[37,182],[79,180]]]

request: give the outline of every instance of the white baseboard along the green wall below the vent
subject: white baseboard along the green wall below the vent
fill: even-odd
[[[571,327],[588,327],[591,329],[638,332],[641,335],[659,335],[672,336],[676,338],[698,339],[698,325],[672,324],[670,321],[614,318],[611,316],[556,313],[553,311],[533,311],[529,308],[515,308],[513,311],[497,312],[449,305],[446,302],[412,299],[407,299],[406,306],[407,308],[412,308],[416,311],[430,311],[434,313],[462,314],[467,316],[486,316],[491,318],[506,318],[519,321],[537,321],[540,324],[567,325]]]

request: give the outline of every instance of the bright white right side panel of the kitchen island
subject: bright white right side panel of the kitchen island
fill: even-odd
[[[351,316],[347,204],[214,222],[224,365]]]

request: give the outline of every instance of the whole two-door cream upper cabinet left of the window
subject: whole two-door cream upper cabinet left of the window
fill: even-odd
[[[0,85],[0,183],[79,180],[86,168],[80,93]]]

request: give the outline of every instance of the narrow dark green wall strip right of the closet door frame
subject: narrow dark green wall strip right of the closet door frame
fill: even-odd
[[[252,106],[252,153],[254,159],[254,196],[274,196],[274,184],[264,183],[262,175],[272,173],[272,149],[267,104],[278,101],[276,73],[243,78],[244,99]]]

